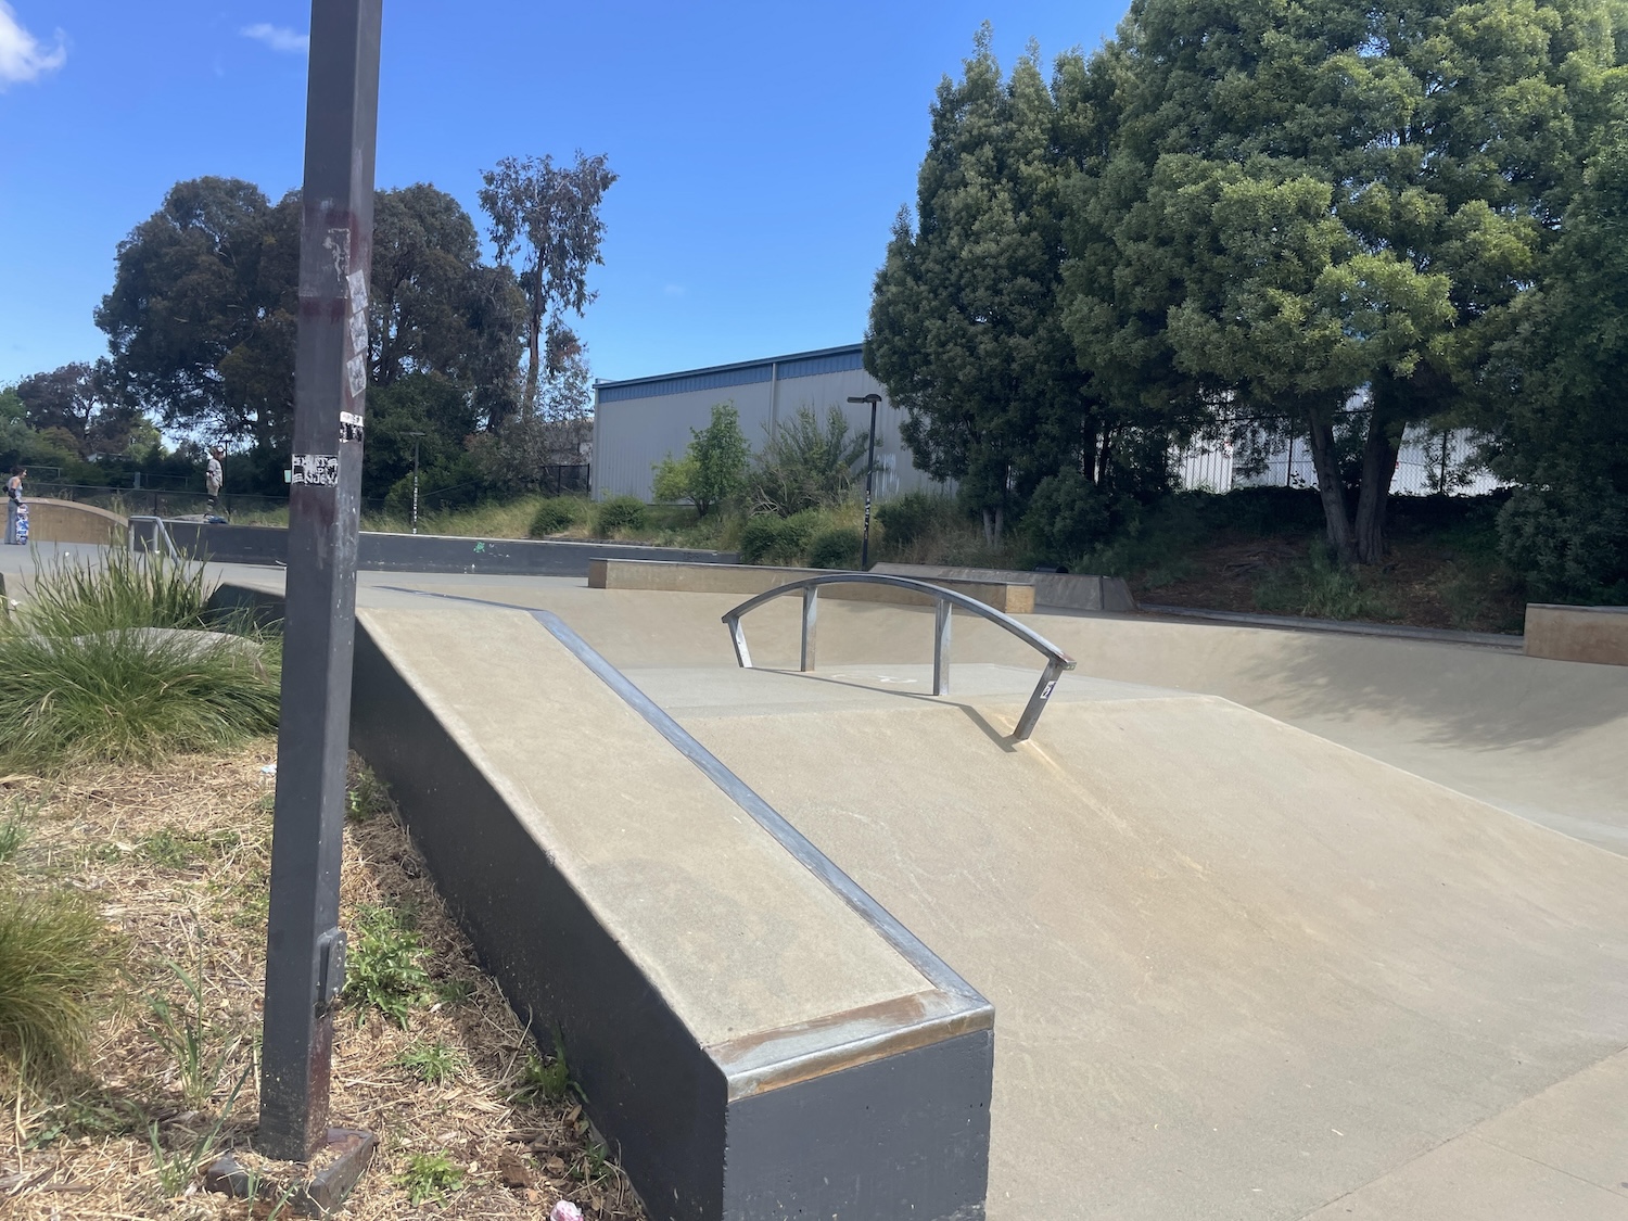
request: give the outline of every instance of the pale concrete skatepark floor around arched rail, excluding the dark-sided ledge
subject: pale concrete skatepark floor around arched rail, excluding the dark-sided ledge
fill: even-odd
[[[1014,746],[978,620],[933,698],[908,607],[798,676],[729,596],[409,586],[558,612],[995,1003],[991,1221],[1628,1221],[1628,667],[1035,615]]]

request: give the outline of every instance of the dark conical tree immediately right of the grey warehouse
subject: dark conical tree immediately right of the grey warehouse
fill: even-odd
[[[985,24],[938,86],[915,223],[900,212],[871,298],[864,366],[908,412],[912,461],[959,480],[991,537],[1045,475],[1097,472],[1097,402],[1058,308],[1068,138],[1037,52],[1003,80]]]

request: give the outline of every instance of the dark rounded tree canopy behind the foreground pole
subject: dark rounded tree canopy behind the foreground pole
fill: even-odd
[[[177,182],[119,246],[96,311],[111,348],[98,387],[168,428],[287,453],[300,212],[298,192],[274,205],[238,179]],[[376,194],[368,495],[410,472],[412,431],[431,469],[467,474],[466,438],[516,410],[524,317],[457,200],[428,184]]]

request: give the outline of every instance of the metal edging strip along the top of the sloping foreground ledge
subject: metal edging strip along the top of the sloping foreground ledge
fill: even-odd
[[[851,1014],[832,1014],[819,1022],[796,1027],[778,1027],[744,1039],[731,1040],[716,1048],[729,1070],[731,1096],[746,1096],[791,1084],[803,1076],[832,1071],[840,1066],[864,1063],[877,1055],[899,1050],[899,1044],[920,1045],[936,1042],[967,1031],[990,1029],[995,1024],[995,1006],[956,970],[934,954],[915,933],[873,899],[864,887],[843,873],[835,861],[816,848],[780,811],[770,806],[734,772],[702,746],[684,726],[659,708],[622,671],[612,666],[594,648],[552,610],[529,606],[495,602],[485,597],[436,593],[430,589],[405,589],[387,586],[391,593],[436,597],[451,602],[487,606],[498,610],[521,610],[542,625],[601,682],[615,692],[624,703],[637,711],[656,733],[689,759],[724,796],[746,811],[757,825],[767,830],[781,848],[821,879],[866,925],[887,941],[921,977],[939,993],[917,993],[902,998],[908,1013],[873,1013],[860,1009]],[[1021,627],[1021,625],[1019,625]],[[938,1032],[936,1035],[933,1032]]]

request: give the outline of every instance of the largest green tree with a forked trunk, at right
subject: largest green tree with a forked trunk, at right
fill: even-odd
[[[1330,540],[1374,562],[1402,430],[1465,407],[1615,54],[1587,0],[1136,0],[1104,52],[1125,88],[1102,179],[1133,205],[1099,210],[1112,254],[1081,247],[1076,314],[1143,300],[1146,347],[1211,404],[1302,414]],[[1350,516],[1330,427],[1358,389]]]

